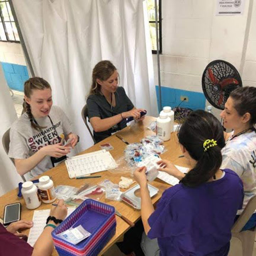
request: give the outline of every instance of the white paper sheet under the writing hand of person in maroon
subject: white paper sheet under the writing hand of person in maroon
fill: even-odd
[[[75,207],[68,207],[68,215],[71,214],[75,210]],[[34,246],[36,240],[39,238],[41,233],[43,232],[44,227],[46,226],[46,220],[50,215],[50,209],[46,210],[35,210],[33,215],[33,226],[30,229],[30,233],[28,234],[28,244],[32,247]],[[67,217],[68,217],[67,215]]]

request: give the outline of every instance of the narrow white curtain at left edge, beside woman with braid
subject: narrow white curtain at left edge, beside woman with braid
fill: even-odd
[[[20,175],[17,174],[14,165],[5,153],[2,145],[2,136],[11,124],[17,119],[17,114],[12,102],[9,87],[6,84],[2,65],[0,64],[0,109],[1,109],[1,125],[0,125],[0,195],[18,186],[18,182],[22,181]]]

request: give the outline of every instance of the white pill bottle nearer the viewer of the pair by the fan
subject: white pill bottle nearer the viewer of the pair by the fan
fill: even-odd
[[[171,118],[163,111],[160,112],[159,117],[156,119],[156,135],[163,141],[171,138]]]

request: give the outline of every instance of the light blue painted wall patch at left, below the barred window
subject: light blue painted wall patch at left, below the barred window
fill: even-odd
[[[29,79],[27,66],[1,62],[8,86],[17,91],[24,90],[24,82]]]

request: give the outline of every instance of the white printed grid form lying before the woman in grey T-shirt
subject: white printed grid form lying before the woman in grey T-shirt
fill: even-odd
[[[113,156],[105,149],[75,156],[67,159],[65,164],[70,178],[90,175],[117,167]]]

